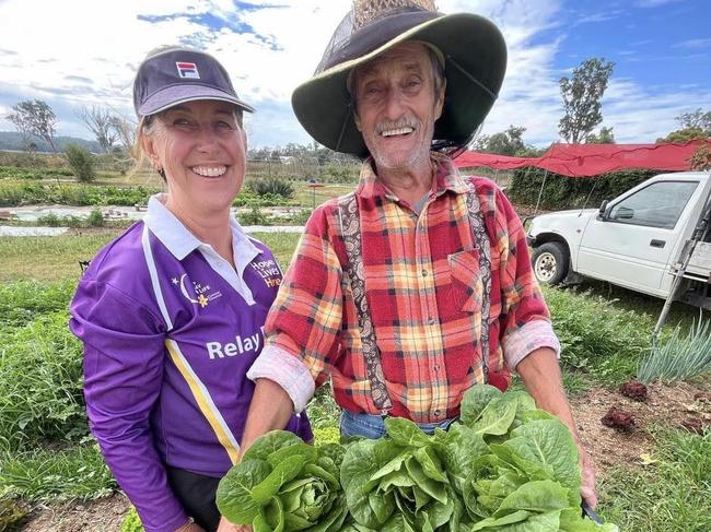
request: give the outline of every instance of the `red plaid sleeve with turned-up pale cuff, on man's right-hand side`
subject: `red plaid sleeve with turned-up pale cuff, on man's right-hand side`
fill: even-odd
[[[511,370],[531,353],[549,347],[560,356],[560,342],[533,273],[526,235],[511,202],[497,191],[497,245],[501,252],[501,345]]]

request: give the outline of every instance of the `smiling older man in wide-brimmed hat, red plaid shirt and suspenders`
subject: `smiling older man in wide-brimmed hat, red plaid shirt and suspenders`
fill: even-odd
[[[322,144],[368,157],[353,194],[318,208],[266,324],[242,450],[281,428],[328,378],[341,433],[380,437],[383,415],[446,427],[475,383],[515,370],[578,442],[548,310],[503,193],[433,151],[465,146],[505,70],[496,26],[432,2],[357,1],[293,106]],[[394,4],[398,4],[394,7]],[[351,27],[348,27],[351,26]]]

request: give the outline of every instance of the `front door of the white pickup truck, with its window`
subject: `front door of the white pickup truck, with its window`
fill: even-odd
[[[614,200],[584,229],[578,271],[664,296],[662,277],[680,235],[675,227],[697,187],[698,181],[656,181]]]

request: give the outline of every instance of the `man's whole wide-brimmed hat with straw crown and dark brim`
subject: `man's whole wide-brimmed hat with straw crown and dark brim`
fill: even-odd
[[[320,144],[368,155],[356,127],[348,76],[360,64],[406,40],[433,46],[444,58],[447,81],[433,149],[466,145],[496,102],[506,70],[499,28],[474,13],[445,15],[424,0],[365,0],[336,29],[313,78],[294,91],[296,118]]]

